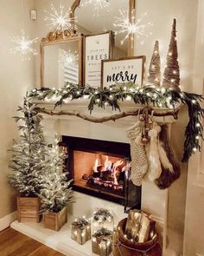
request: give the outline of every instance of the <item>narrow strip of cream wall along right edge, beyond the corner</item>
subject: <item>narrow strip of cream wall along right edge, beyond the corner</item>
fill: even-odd
[[[194,92],[203,94],[204,79],[204,1],[199,0],[194,58]],[[203,142],[202,142],[202,145]],[[204,148],[202,149],[202,157]],[[185,216],[184,255],[204,255],[204,172],[201,154],[197,153],[188,165],[187,206]],[[202,174],[199,174],[200,171]]]

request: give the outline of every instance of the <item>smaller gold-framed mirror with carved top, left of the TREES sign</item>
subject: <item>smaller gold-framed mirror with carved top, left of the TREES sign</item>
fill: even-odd
[[[50,32],[41,40],[41,88],[61,89],[66,82],[82,85],[83,36]]]

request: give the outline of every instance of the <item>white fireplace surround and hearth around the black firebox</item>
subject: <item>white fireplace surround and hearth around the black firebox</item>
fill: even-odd
[[[53,109],[54,104],[48,102],[47,104],[41,104],[41,107],[48,109]],[[89,115],[87,110],[88,100],[74,100],[73,102],[67,102],[62,106],[63,110],[75,110],[80,113]],[[121,105],[121,111],[128,111],[136,109],[137,106],[133,102],[123,102]],[[61,109],[61,108],[60,108]],[[116,111],[112,108],[97,108],[92,112],[94,116],[105,116],[115,114]],[[55,135],[67,135],[73,137],[82,137],[88,139],[97,139],[103,141],[118,141],[129,143],[129,139],[126,136],[125,130],[131,127],[136,121],[137,116],[125,117],[118,121],[107,121],[105,123],[92,123],[89,121],[84,121],[75,116],[51,116],[44,115],[42,121],[42,126],[44,129],[44,135],[48,143],[52,143]],[[173,122],[173,117],[156,118],[156,121],[160,122]],[[49,231],[44,229],[42,224],[23,224],[15,221],[11,226],[16,230],[31,236],[35,240],[39,240],[55,250],[66,254],[66,251],[71,253],[68,255],[93,255],[90,251],[90,242],[86,243],[84,247],[77,246],[76,251],[74,251],[74,242],[71,239],[67,239],[70,236],[70,221],[75,218],[86,216],[91,217],[92,212],[97,207],[105,207],[112,211],[114,214],[115,225],[118,221],[126,217],[124,213],[124,207],[115,204],[110,201],[101,200],[86,194],[74,193],[76,202],[69,207],[68,220],[69,223],[62,227],[60,233],[55,233],[54,231]],[[167,247],[167,223],[168,223],[168,202],[169,202],[169,190],[160,190],[156,185],[150,181],[143,181],[142,186],[142,209],[150,213],[153,219],[156,220],[156,228],[160,233],[161,241],[163,242],[163,252]],[[65,237],[64,237],[65,235]],[[57,243],[57,240],[59,243]],[[65,242],[63,242],[65,240]],[[80,248],[80,249],[79,249]],[[79,251],[80,250],[80,251]],[[90,254],[91,253],[91,254]],[[165,254],[165,255],[175,255],[175,254]]]

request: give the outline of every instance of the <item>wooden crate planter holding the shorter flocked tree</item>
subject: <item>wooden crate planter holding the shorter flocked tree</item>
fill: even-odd
[[[43,213],[43,222],[46,228],[59,231],[67,223],[67,207],[64,207],[59,213]]]

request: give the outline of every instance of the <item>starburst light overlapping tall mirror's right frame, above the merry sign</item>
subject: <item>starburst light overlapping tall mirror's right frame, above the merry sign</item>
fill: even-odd
[[[114,27],[118,28],[116,34],[126,33],[124,39],[121,41],[121,44],[124,44],[125,40],[131,36],[150,36],[152,33],[147,33],[145,30],[153,25],[153,23],[143,23],[143,18],[147,16],[147,13],[144,13],[137,21],[135,20],[135,10],[131,13],[131,19],[129,12],[125,10],[119,10],[120,16],[117,17]]]

